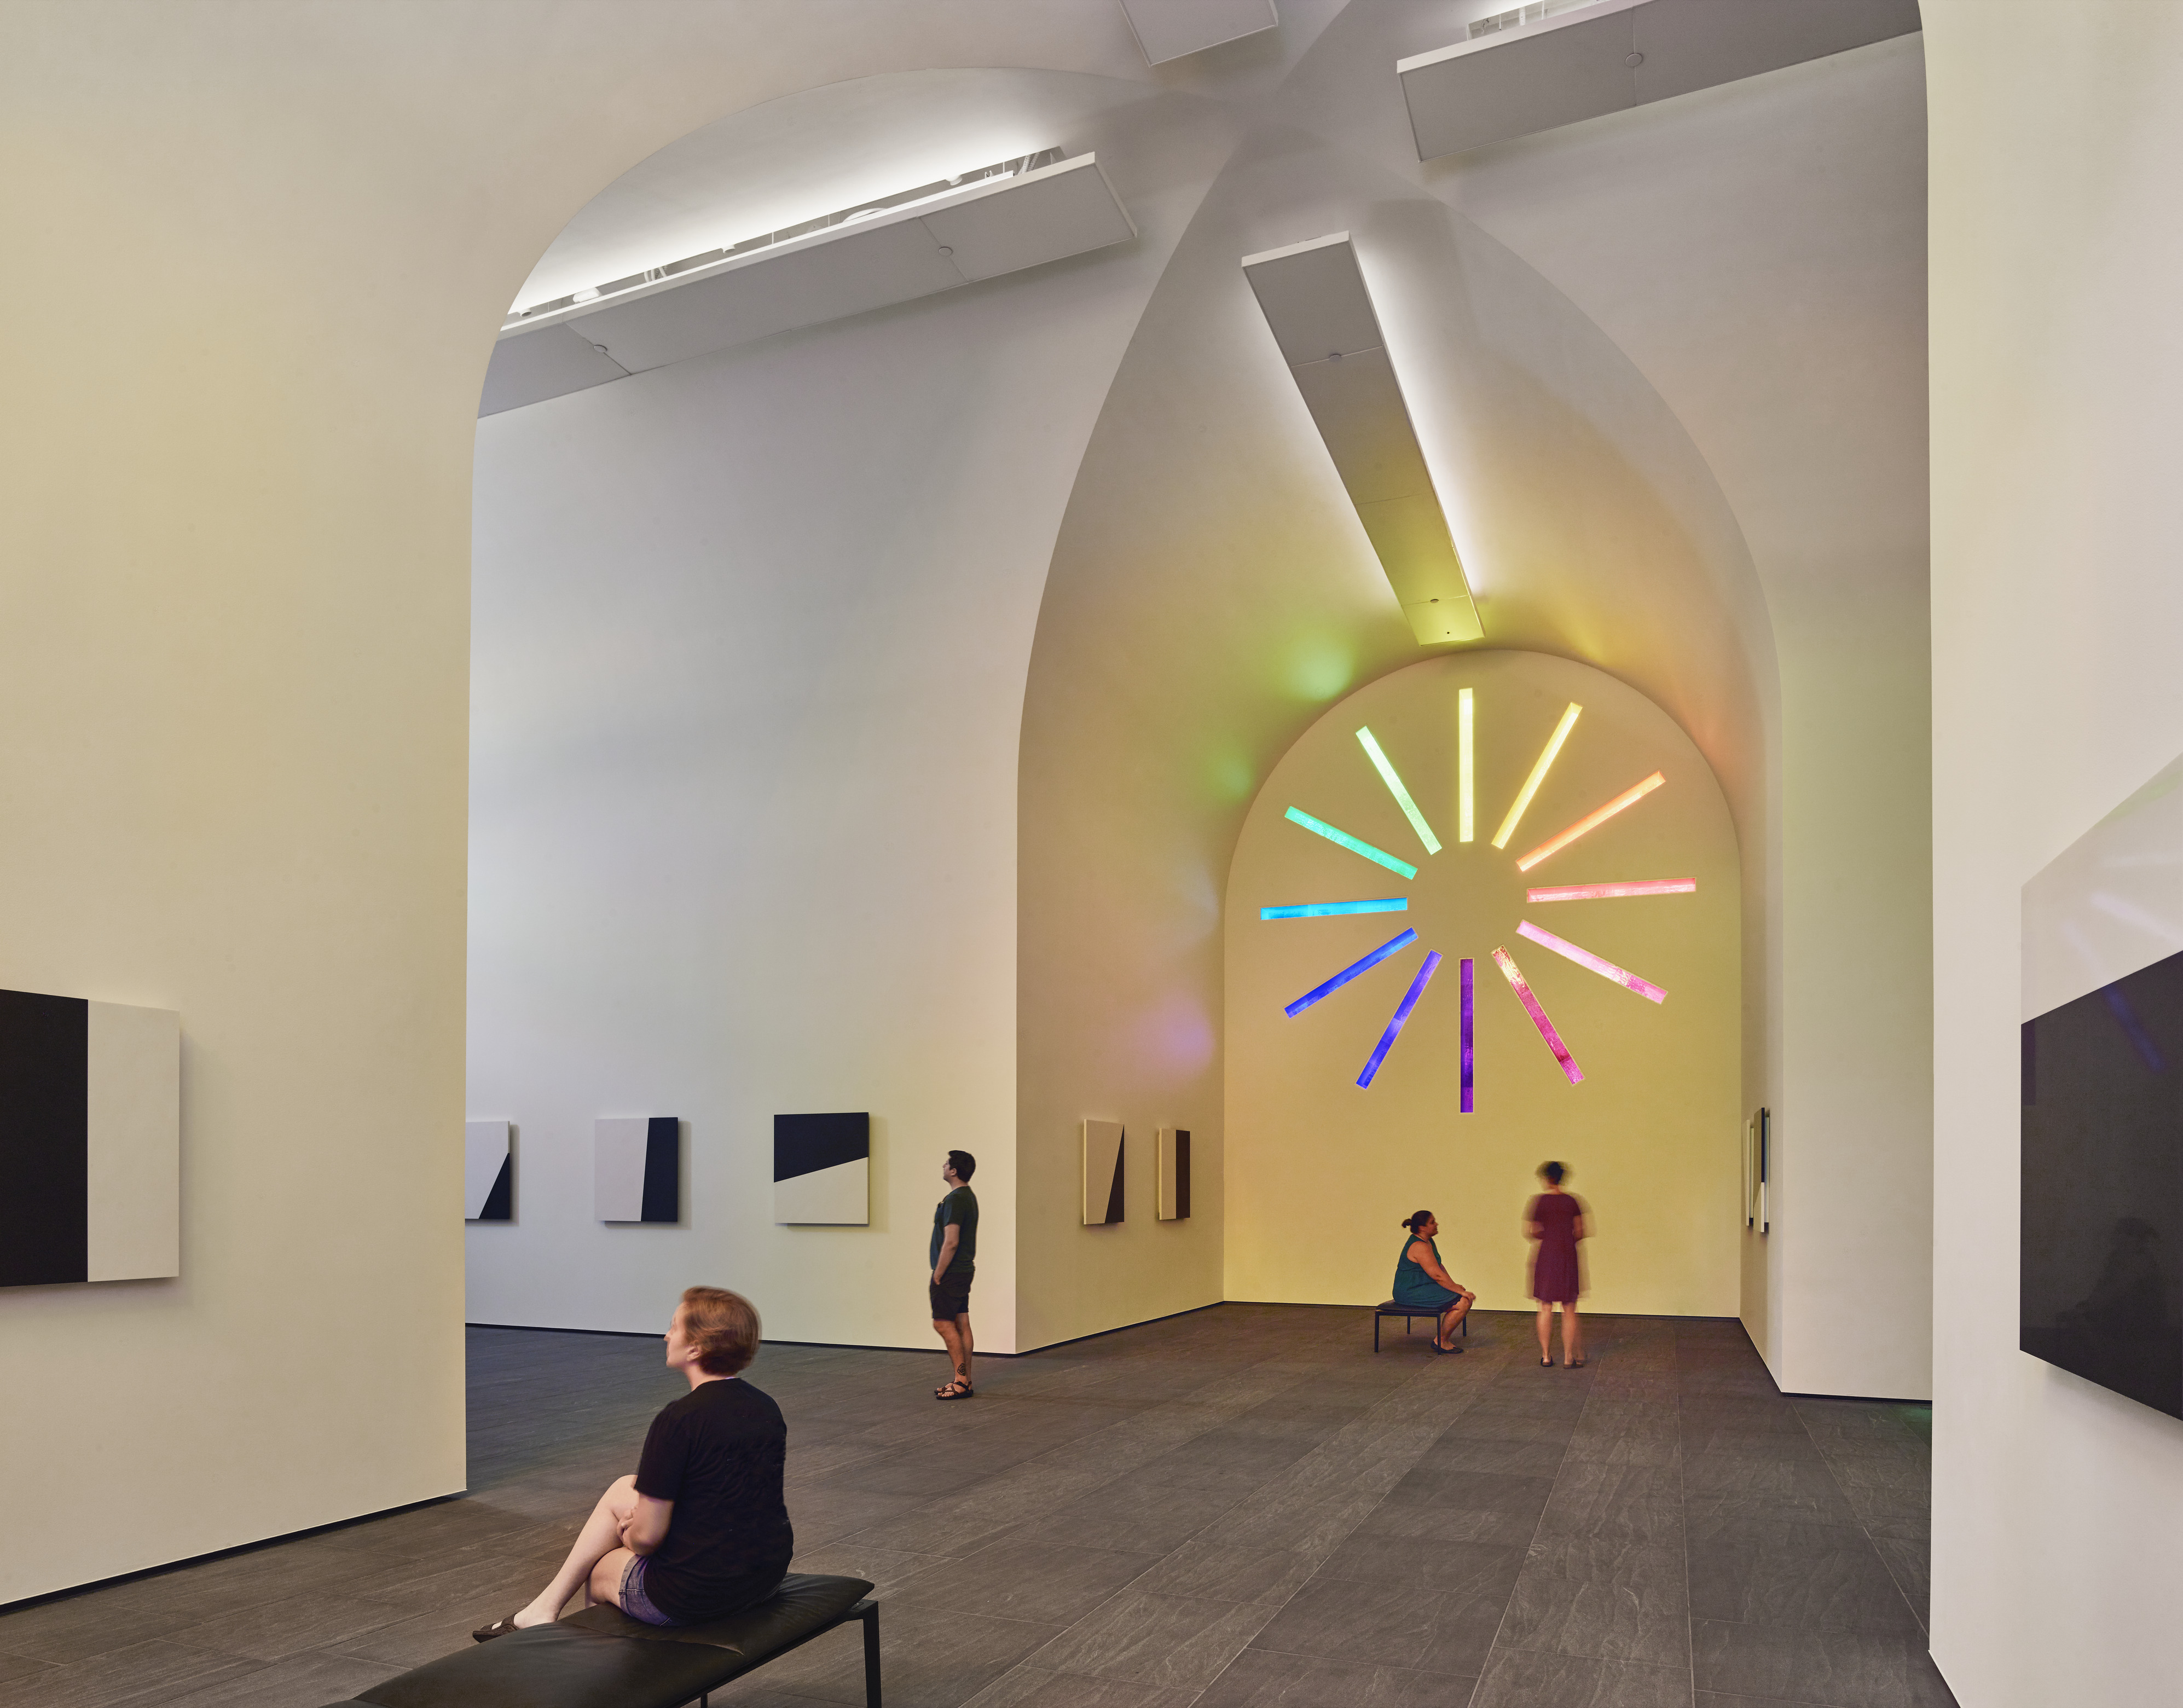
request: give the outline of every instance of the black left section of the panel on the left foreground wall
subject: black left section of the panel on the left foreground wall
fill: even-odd
[[[0,992],[0,1286],[90,1278],[90,1020],[74,996]]]

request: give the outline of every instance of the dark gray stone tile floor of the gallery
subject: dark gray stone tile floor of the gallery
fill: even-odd
[[[1923,1407],[1784,1398],[1733,1321],[1371,1352],[1225,1304],[980,1365],[768,1345],[797,1568],[869,1577],[893,1708],[1945,1708]],[[681,1385],[474,1328],[469,1496],[0,1612],[0,1708],[319,1708],[550,1573]],[[720,1708],[862,1704],[856,1632]]]

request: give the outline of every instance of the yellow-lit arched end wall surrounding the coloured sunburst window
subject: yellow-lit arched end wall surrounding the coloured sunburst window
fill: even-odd
[[[1456,695],[1476,721],[1476,837],[1456,830]],[[1583,705],[1506,847],[1493,847],[1563,708]],[[1428,854],[1371,767],[1371,730]],[[1624,788],[1666,782],[1528,874],[1517,861]],[[1386,871],[1288,808],[1417,867]],[[1532,885],[1690,878],[1690,895],[1528,904]],[[1399,898],[1401,913],[1262,920],[1262,906]],[[1587,1308],[1727,1317],[1738,1304],[1742,992],[1735,828],[1711,769],[1642,695],[1563,657],[1467,651],[1349,695],[1251,804],[1227,913],[1227,1291],[1375,1304],[1397,1225],[1441,1221],[1450,1273],[1484,1310],[1526,1310],[1524,1206],[1559,1160],[1591,1210]],[[1530,922],[1668,992],[1650,1003],[1517,935]],[[1284,1009],[1399,930],[1417,944],[1297,1016]],[[1508,981],[1508,950],[1574,1055],[1570,1083]],[[1358,1075],[1425,952],[1445,959],[1373,1075]],[[1460,1112],[1460,959],[1474,961],[1474,1112]]]

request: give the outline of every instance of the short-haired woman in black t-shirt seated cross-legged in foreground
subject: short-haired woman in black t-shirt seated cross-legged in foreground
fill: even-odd
[[[478,1642],[550,1625],[578,1588],[646,1625],[709,1625],[779,1588],[795,1551],[782,1498],[788,1424],[738,1376],[758,1337],[758,1310],[740,1293],[683,1293],[668,1369],[688,1376],[690,1391],[653,1418],[637,1474],[598,1496],[552,1584],[472,1632]]]

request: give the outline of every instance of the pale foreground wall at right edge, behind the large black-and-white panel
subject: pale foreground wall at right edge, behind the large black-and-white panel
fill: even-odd
[[[2170,1658],[2118,1634],[2183,1594],[2183,1424],[2017,1350],[2017,1000],[2024,880],[2183,751],[2183,13],[1925,20],[1932,1645],[1965,1708],[2157,1699]]]

